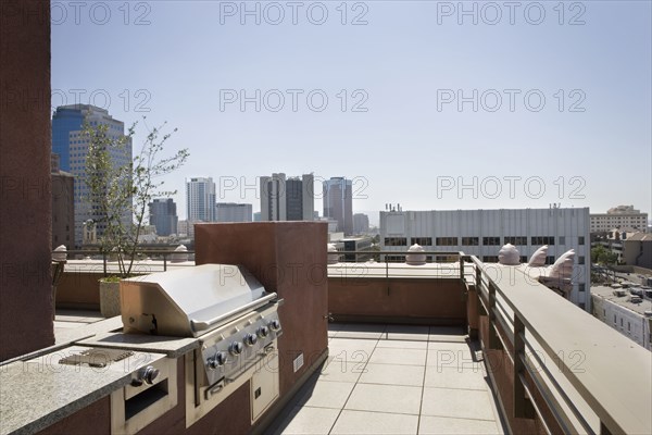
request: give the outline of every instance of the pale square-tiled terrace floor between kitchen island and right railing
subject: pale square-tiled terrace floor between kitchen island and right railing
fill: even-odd
[[[503,433],[461,328],[335,324],[328,336],[327,363],[275,433]]]

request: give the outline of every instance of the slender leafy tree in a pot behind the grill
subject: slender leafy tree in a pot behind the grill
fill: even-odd
[[[146,119],[142,124],[147,127]],[[104,256],[116,261],[110,276],[100,279],[100,310],[104,316],[120,314],[120,279],[131,276],[138,254],[138,238],[145,215],[153,198],[175,195],[163,190],[161,179],[188,159],[186,148],[163,157],[163,147],[172,133],[163,133],[165,124],[148,128],[140,150],[131,158],[131,141],[138,123],[126,135],[111,135],[108,125],[85,125],[87,139],[86,207]],[[123,164],[118,162],[122,160]]]

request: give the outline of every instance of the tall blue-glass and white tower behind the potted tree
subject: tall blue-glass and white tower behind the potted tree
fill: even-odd
[[[86,157],[88,156],[89,138],[83,134],[84,126],[97,127],[105,125],[106,135],[112,140],[124,137],[125,124],[114,120],[105,109],[90,104],[61,105],[52,115],[52,152],[60,157],[60,169],[73,174],[75,198],[75,240],[83,240],[83,224],[91,219],[98,222],[97,232],[103,232],[102,216],[93,213],[93,207],[88,200],[89,190],[85,183]],[[111,161],[115,166],[124,166],[131,162],[131,141],[127,140],[124,148],[111,149]],[[130,210],[125,210],[123,223],[131,223]]]

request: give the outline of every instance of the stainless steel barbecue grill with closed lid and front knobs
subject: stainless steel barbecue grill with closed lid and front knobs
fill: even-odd
[[[125,279],[125,333],[196,337],[186,357],[186,425],[203,417],[247,381],[252,422],[278,397],[276,293],[244,268],[204,264]],[[277,369],[277,365],[276,365]]]

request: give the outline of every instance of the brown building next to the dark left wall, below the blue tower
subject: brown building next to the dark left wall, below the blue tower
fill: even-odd
[[[61,171],[59,156],[52,153],[52,249],[65,245],[75,247],[75,177]]]

